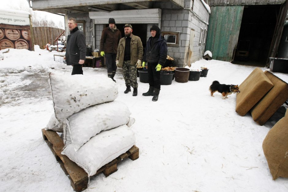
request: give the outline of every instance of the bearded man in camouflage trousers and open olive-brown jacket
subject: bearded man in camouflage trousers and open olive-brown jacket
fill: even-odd
[[[141,66],[143,56],[143,46],[140,37],[132,34],[132,26],[130,24],[124,25],[125,37],[120,39],[116,65],[123,68],[123,77],[126,84],[124,93],[131,91],[133,87],[133,96],[137,96],[138,83],[137,83],[137,69]],[[131,87],[130,87],[131,86]]]

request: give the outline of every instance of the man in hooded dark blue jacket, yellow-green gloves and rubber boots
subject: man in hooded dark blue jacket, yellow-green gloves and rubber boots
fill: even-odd
[[[151,37],[146,44],[142,66],[148,65],[149,90],[143,96],[153,96],[152,101],[158,100],[160,92],[160,71],[167,58],[167,44],[157,25],[150,28]]]

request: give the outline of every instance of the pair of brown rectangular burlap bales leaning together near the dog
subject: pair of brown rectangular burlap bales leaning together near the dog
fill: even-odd
[[[239,89],[236,112],[244,116],[250,111],[253,120],[260,125],[265,124],[288,99],[288,84],[260,68],[255,68]]]

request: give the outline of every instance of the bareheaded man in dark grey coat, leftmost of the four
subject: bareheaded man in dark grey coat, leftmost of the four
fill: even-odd
[[[66,53],[63,58],[66,59],[67,65],[73,66],[71,75],[83,75],[82,65],[86,58],[85,36],[83,32],[78,29],[74,18],[68,20],[68,28],[70,35],[67,37]]]

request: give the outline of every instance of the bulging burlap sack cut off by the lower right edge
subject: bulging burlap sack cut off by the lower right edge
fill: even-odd
[[[262,148],[273,179],[288,177],[288,110],[267,133]]]

